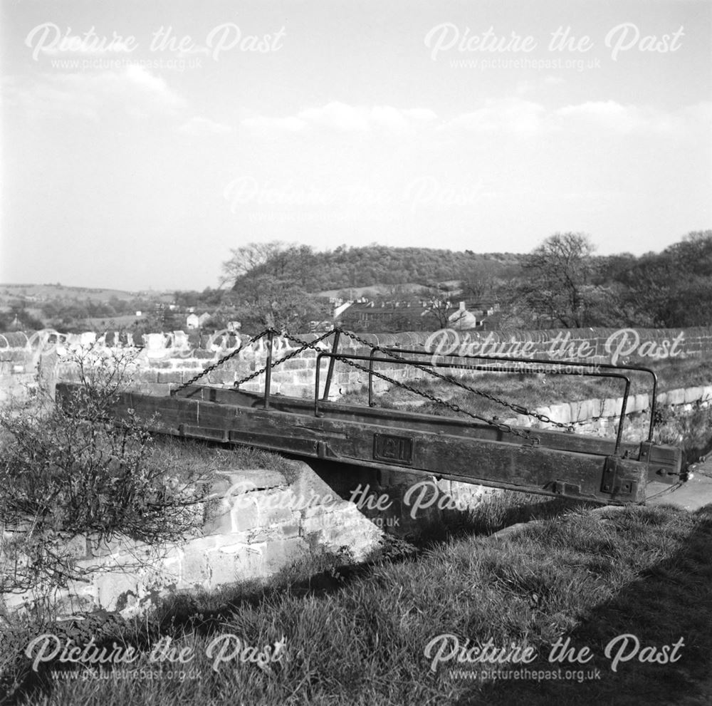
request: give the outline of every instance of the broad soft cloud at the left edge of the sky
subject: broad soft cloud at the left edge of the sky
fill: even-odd
[[[121,71],[45,73],[30,82],[13,77],[6,86],[9,103],[33,118],[70,115],[98,120],[108,112],[138,117],[174,114],[184,107],[183,98],[164,78],[137,65]]]

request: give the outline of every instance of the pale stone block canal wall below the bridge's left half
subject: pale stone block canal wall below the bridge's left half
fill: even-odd
[[[361,561],[379,545],[382,531],[341,499],[304,462],[290,462],[290,480],[264,469],[220,472],[212,488],[216,511],[187,541],[147,546],[129,539],[99,543],[90,536],[70,543],[75,569],[85,577],[55,591],[60,615],[103,608],[124,616],[142,613],[177,591],[214,589],[262,579],[300,559],[325,553]],[[197,505],[195,512],[203,513]],[[12,536],[4,528],[3,539]],[[0,561],[9,561],[0,552]],[[41,590],[7,593],[7,608],[32,603]]]

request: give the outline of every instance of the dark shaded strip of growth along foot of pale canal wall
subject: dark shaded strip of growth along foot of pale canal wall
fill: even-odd
[[[28,660],[21,658],[23,648],[41,633],[53,633],[64,640],[72,638],[79,645],[94,639],[99,648],[110,649],[114,642],[133,645],[140,652],[150,651],[152,645],[165,637],[174,640],[191,634],[211,637],[224,629],[225,621],[234,613],[269,606],[286,592],[297,598],[325,596],[368,578],[374,567],[384,562],[396,564],[427,551],[436,551],[438,546],[452,540],[492,534],[531,519],[550,519],[575,507],[582,504],[505,492],[481,503],[474,511],[444,512],[439,521],[424,521],[417,535],[409,536],[408,540],[389,534],[384,546],[361,564],[350,563],[347,554],[325,554],[313,561],[288,566],[267,583],[246,581],[209,592],[181,593],[165,598],[150,618],[125,621],[115,613],[99,611],[81,621],[32,625],[31,632],[26,630],[15,635],[6,645],[16,650],[24,665],[18,670],[21,686],[14,688],[11,698],[4,700],[0,693],[0,704],[26,702],[28,697],[36,702],[51,695],[53,682],[49,670],[56,670],[58,665],[41,665],[35,673],[28,669]]]

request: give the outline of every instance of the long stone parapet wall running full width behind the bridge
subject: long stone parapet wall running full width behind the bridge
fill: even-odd
[[[318,336],[300,334],[298,338],[314,343]],[[360,334],[355,340],[342,336],[340,353],[368,355],[369,346],[414,348],[428,351],[423,358],[444,363],[452,362],[449,354],[503,355],[528,360],[579,360],[587,363],[644,365],[665,358],[712,358],[712,328],[688,329],[557,329],[554,331],[473,331],[453,330],[435,333]],[[333,336],[316,343],[323,351],[331,350]],[[0,405],[10,396],[23,397],[36,388],[37,373],[48,388],[57,380],[76,378],[76,367],[70,363],[73,349],[93,346],[95,351],[124,352],[135,356],[133,387],[152,395],[167,395],[172,388],[187,382],[201,371],[244,346],[226,363],[220,365],[200,382],[208,385],[234,385],[266,365],[266,338],[249,343],[246,336],[218,332],[210,336],[199,333],[150,333],[134,341],[130,335],[118,333],[61,334],[55,331],[0,334]],[[276,336],[273,360],[295,353],[298,343]],[[311,398],[315,393],[317,352],[307,348],[273,368],[271,392],[274,394]],[[363,361],[352,361],[364,367]],[[320,394],[323,393],[328,359],[321,365]],[[377,363],[377,372],[393,380],[412,380],[426,373],[394,361]],[[445,368],[446,373],[461,370]],[[338,398],[365,385],[364,370],[347,363],[335,364],[330,398]],[[390,383],[377,378],[377,389]],[[241,389],[262,391],[264,375],[256,375],[241,385]]]

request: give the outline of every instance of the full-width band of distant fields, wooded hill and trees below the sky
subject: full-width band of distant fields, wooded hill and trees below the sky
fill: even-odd
[[[152,296],[15,286],[4,290],[4,298],[0,293],[0,329],[172,331],[184,328],[187,311],[197,308],[211,314],[205,328],[240,321],[247,333],[266,326],[307,331],[329,325],[329,296],[353,299],[364,288],[378,292],[370,294],[377,303],[429,302],[428,316],[394,312],[379,320],[383,332],[444,326],[453,311],[447,302],[461,299],[498,303],[501,310],[486,322],[491,329],[705,326],[712,306],[712,231],[691,232],[640,257],[598,256],[587,234],[571,232],[553,234],[530,254],[378,244],[315,251],[249,243],[231,250],[221,282],[225,289]],[[142,311],[138,319],[132,318],[136,311]]]

